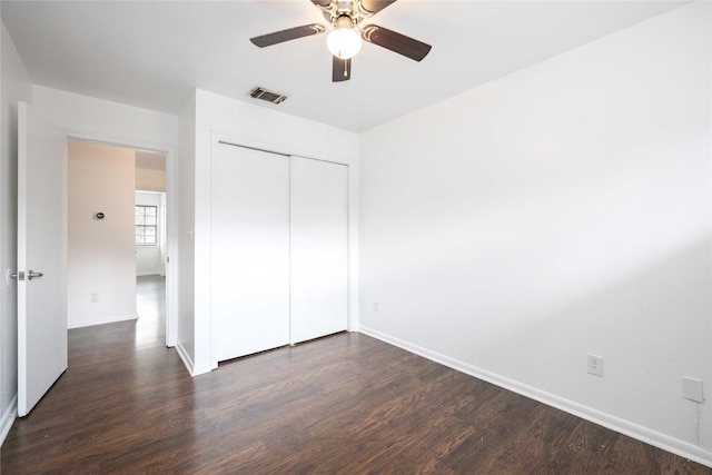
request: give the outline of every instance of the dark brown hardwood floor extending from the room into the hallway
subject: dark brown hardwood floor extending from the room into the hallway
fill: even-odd
[[[141,280],[138,321],[69,331],[3,474],[712,474],[359,334],[191,378],[164,346],[160,284]]]

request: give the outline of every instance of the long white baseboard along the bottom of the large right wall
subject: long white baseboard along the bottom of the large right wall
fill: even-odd
[[[680,441],[674,437],[670,437],[665,434],[651,431],[647,427],[643,427],[630,420],[615,417],[611,414],[603,413],[601,410],[584,406],[570,399],[565,399],[545,390],[541,390],[536,387],[520,383],[514,379],[510,379],[507,377],[451,358],[439,353],[432,352],[427,348],[402,340],[373,328],[362,326],[359,328],[359,333],[397,346],[418,356],[423,356],[424,358],[431,359],[435,363],[439,363],[441,365],[456,369],[461,373],[465,373],[478,379],[486,380],[487,383],[492,383],[505,389],[517,393],[522,396],[538,400],[540,403],[546,404],[547,406],[555,407],[568,414],[573,414],[574,416],[590,420],[594,424],[599,424],[603,427],[627,435],[629,437],[633,437],[657,448],[662,448],[663,451],[668,451],[672,454],[680,455],[681,457],[712,467],[712,452],[709,452],[696,445]]]

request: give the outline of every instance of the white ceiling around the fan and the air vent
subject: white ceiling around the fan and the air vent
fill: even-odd
[[[399,0],[375,23],[433,46],[415,62],[364,44],[332,82],[324,34],[259,49],[250,37],[324,22],[309,0],[8,1],[2,21],[36,85],[178,113],[195,88],[362,131],[635,24],[681,1]],[[247,97],[256,85],[279,106]]]

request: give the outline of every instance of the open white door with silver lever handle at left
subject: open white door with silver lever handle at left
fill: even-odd
[[[67,369],[67,137],[31,106],[18,120],[18,414]]]

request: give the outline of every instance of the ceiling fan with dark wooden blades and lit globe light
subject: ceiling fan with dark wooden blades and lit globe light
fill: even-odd
[[[347,81],[352,77],[352,58],[360,50],[362,40],[389,49],[399,55],[421,61],[431,51],[431,46],[393,30],[376,24],[362,27],[362,21],[378,13],[396,0],[310,0],[322,10],[328,26],[322,23],[304,24],[287,30],[275,31],[250,38],[250,41],[265,48],[328,31],[327,47],[332,55],[332,80]]]

